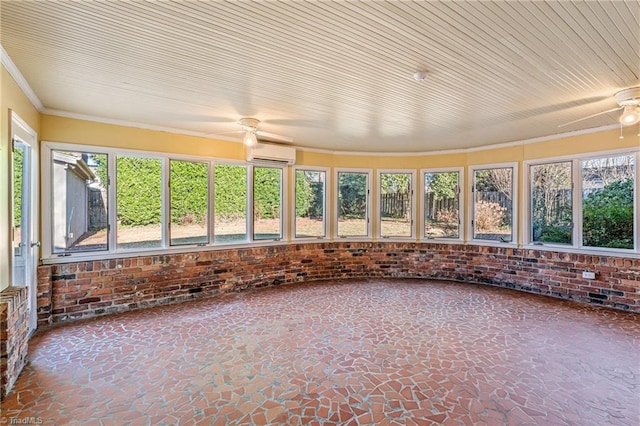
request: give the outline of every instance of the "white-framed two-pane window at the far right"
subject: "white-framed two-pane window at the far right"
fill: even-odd
[[[531,164],[528,240],[638,250],[636,158],[623,154]]]

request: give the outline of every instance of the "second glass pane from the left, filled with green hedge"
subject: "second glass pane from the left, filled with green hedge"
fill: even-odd
[[[162,247],[162,161],[116,159],[117,247]]]

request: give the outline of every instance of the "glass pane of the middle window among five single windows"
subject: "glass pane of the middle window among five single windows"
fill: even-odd
[[[411,173],[380,174],[380,235],[410,237]]]

